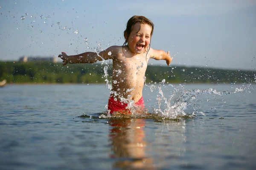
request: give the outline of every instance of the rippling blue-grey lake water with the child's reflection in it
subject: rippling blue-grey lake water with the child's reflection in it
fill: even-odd
[[[130,119],[105,85],[0,88],[0,169],[256,169],[255,84],[158,86]]]

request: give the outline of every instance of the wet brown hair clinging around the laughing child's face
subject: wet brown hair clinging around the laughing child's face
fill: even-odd
[[[150,36],[153,35],[153,31],[154,31],[154,23],[149,20],[148,18],[144,17],[144,16],[138,16],[138,15],[134,15],[133,17],[131,17],[127,24],[126,24],[126,29],[124,31],[124,37],[125,38],[125,42],[123,44],[123,47],[124,45],[128,45],[128,37],[130,36],[131,34],[131,31],[133,30],[133,26],[136,24],[136,23],[140,23],[140,26],[141,24],[148,24],[149,26],[151,26],[151,34]],[[140,30],[139,30],[140,31]],[[151,44],[151,39],[150,39],[150,43],[149,43],[149,48],[150,48],[150,44]],[[129,47],[128,47],[129,48]],[[130,49],[129,49],[130,50]],[[148,51],[147,51],[148,52]],[[147,53],[148,54],[148,53]]]

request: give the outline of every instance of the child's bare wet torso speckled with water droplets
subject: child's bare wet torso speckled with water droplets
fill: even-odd
[[[145,71],[149,54],[132,55],[127,47],[122,49],[113,57],[112,72],[112,97],[119,101],[122,98],[137,102],[142,97]]]

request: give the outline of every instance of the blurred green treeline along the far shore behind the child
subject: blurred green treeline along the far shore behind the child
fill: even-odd
[[[0,81],[8,83],[105,83],[111,81],[112,65],[69,64],[51,62],[0,62]],[[180,66],[151,66],[146,71],[146,82],[169,83],[254,83],[256,71],[232,71],[212,68]]]

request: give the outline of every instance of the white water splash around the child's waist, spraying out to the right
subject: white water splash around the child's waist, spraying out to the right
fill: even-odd
[[[198,108],[195,107],[195,102],[198,100],[199,96],[202,95],[213,95],[215,96],[224,96],[224,95],[233,95],[241,92],[248,92],[254,90],[251,84],[242,85],[239,88],[236,88],[235,91],[217,91],[214,88],[208,89],[194,89],[194,90],[185,90],[184,85],[180,85],[174,88],[171,95],[166,97],[162,91],[165,85],[146,85],[151,89],[151,92],[158,89],[157,94],[157,108],[153,108],[153,113],[148,113],[146,108],[141,108],[136,105],[133,100],[128,100],[121,98],[121,102],[127,103],[127,108],[131,111],[130,115],[111,115],[109,113],[104,113],[99,116],[100,119],[110,119],[110,118],[144,118],[144,119],[180,119],[181,117],[198,117],[199,115],[206,116],[202,111],[198,111]],[[174,86],[172,86],[174,87]],[[114,96],[118,96],[117,93],[112,92]],[[205,101],[208,101],[207,98]],[[222,102],[225,103],[225,100],[222,99]],[[162,105],[164,103],[164,105]],[[192,111],[188,111],[189,108],[192,108]]]

